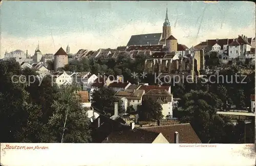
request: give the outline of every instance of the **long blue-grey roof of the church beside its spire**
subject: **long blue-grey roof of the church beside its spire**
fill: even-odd
[[[127,46],[130,45],[157,45],[161,39],[162,33],[142,34],[131,36]]]

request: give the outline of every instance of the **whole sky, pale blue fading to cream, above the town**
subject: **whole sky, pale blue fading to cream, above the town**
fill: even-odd
[[[55,53],[69,44],[97,50],[126,45],[132,35],[161,33],[166,6],[172,35],[187,47],[206,39],[255,37],[255,4],[225,1],[2,1],[1,58],[20,49]]]

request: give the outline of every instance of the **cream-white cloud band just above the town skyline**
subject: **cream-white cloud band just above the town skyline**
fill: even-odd
[[[188,47],[196,45],[206,39],[221,39],[221,38],[236,38],[238,35],[246,35],[247,37],[254,37],[255,24],[239,29],[223,24],[222,28],[219,25],[201,27],[198,38],[198,27],[186,27],[179,25],[174,28],[172,26],[172,34],[179,43],[185,44]],[[147,33],[161,33],[162,22],[148,23],[148,22],[133,22],[120,26],[118,29],[109,34],[100,33],[70,33],[62,36],[45,36],[20,38],[13,37],[7,34],[1,34],[1,58],[4,57],[5,50],[8,52],[16,49],[28,50],[28,53],[33,55],[37,43],[39,41],[40,50],[42,53],[55,53],[60,46],[66,49],[69,44],[72,53],[76,53],[79,49],[97,50],[99,48],[116,48],[120,45],[126,45],[132,35],[147,34]],[[54,47],[55,46],[55,47]]]

